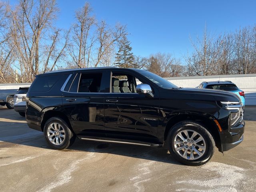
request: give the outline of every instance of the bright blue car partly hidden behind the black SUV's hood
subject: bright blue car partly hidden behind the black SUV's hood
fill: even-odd
[[[223,90],[229,91],[234,94],[237,94],[242,103],[245,104],[244,92],[240,90],[236,84],[232,83],[231,81],[210,81],[210,82],[202,82],[198,88],[205,88],[205,89],[215,89],[215,90]]]

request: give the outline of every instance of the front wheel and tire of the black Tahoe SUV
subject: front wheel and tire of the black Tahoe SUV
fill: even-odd
[[[168,133],[166,143],[170,154],[178,162],[189,166],[207,163],[215,150],[210,132],[202,124],[192,121],[175,124]]]

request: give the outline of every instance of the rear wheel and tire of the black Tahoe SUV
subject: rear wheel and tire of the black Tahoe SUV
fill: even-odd
[[[44,138],[51,148],[62,150],[71,146],[76,136],[64,120],[59,117],[52,117],[44,125]]]

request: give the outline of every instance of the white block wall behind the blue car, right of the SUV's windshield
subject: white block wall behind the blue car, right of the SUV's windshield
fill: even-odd
[[[180,87],[196,87],[203,81],[232,81],[245,93],[245,104],[256,105],[256,74],[214,75],[165,78]]]

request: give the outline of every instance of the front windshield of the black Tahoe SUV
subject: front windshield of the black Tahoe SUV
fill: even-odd
[[[165,89],[178,89],[179,88],[178,86],[172,84],[168,80],[165,80],[164,78],[162,78],[152,72],[149,72],[146,70],[139,70],[139,73],[162,88],[165,88]]]

